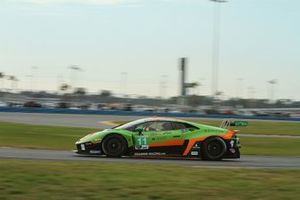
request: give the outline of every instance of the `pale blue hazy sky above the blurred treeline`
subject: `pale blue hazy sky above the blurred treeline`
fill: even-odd
[[[212,94],[209,0],[0,0],[0,72],[18,90],[170,97],[187,79]],[[300,100],[300,1],[228,0],[220,6],[218,90],[223,98]],[[74,72],[69,66],[82,71]],[[276,80],[277,84],[267,82]],[[0,87],[10,88],[8,80]]]

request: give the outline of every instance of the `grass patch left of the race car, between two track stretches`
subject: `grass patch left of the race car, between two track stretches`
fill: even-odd
[[[70,150],[79,138],[96,130],[0,122],[0,146]]]

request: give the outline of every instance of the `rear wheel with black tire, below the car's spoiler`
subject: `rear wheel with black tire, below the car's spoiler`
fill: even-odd
[[[226,151],[226,143],[219,137],[208,138],[202,143],[203,160],[222,160]]]

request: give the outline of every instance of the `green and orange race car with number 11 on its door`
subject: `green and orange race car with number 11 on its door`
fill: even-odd
[[[240,158],[237,131],[227,128],[247,124],[226,120],[214,127],[173,118],[144,118],[89,134],[76,142],[75,152],[107,157]]]

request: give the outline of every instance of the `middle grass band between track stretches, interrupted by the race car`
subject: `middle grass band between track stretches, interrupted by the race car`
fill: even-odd
[[[96,129],[0,122],[0,146],[71,150],[75,141],[94,131]],[[241,144],[244,155],[300,155],[299,138],[248,138],[241,135]]]

